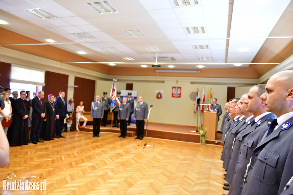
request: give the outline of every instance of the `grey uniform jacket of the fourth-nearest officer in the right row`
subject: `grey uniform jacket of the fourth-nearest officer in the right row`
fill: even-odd
[[[235,132],[238,131],[245,124],[245,120],[246,120],[245,117],[243,117],[241,120],[239,119],[238,124],[233,129],[231,129],[229,131],[229,134],[227,134],[227,136],[226,136],[226,140],[225,140],[225,142],[226,142],[226,151],[225,151],[224,163],[223,163],[223,168],[225,170],[228,170],[229,163],[230,163],[230,160],[231,160],[231,149],[232,149],[232,146],[233,146],[234,138],[236,137]],[[232,133],[232,131],[233,131],[233,133]]]

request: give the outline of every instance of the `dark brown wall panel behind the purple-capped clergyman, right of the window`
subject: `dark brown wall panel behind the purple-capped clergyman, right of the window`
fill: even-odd
[[[61,90],[65,92],[65,98],[67,99],[67,85],[68,75],[46,71],[44,87],[45,102],[48,101],[49,94],[53,94],[57,98]]]

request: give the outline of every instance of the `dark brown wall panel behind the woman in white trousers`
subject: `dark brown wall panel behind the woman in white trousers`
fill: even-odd
[[[74,85],[78,85],[78,87],[74,88],[73,92],[75,108],[77,105],[79,105],[79,101],[82,100],[84,101],[84,110],[91,111],[91,102],[95,98],[96,81],[86,78],[75,77]]]

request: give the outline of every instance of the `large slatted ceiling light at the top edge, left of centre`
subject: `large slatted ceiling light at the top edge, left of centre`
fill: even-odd
[[[97,1],[85,4],[99,14],[120,12],[110,1]]]

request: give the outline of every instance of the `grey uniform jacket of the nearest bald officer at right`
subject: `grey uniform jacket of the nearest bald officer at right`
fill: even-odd
[[[280,194],[293,175],[293,117],[253,150],[243,194]],[[266,135],[266,134],[265,134]]]

